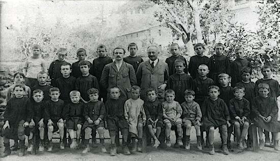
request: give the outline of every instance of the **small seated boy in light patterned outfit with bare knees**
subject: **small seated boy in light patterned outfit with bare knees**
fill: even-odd
[[[178,146],[182,146],[182,108],[180,104],[175,99],[175,92],[172,89],[167,89],[165,91],[165,102],[162,103],[163,108],[163,122],[166,125],[165,135],[166,135],[166,145],[171,147],[170,143],[170,132],[172,125],[177,127],[177,144]]]

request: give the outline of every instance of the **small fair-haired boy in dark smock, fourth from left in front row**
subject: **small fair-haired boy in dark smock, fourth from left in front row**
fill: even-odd
[[[71,149],[76,149],[80,146],[80,137],[83,120],[84,103],[80,102],[81,94],[77,90],[70,92],[71,103],[66,105],[63,109],[63,117],[66,122],[66,127],[69,131],[69,137],[72,141]],[[76,138],[75,137],[76,134]]]

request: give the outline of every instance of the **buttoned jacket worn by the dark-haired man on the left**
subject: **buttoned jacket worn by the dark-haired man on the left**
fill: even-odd
[[[137,84],[133,66],[123,61],[118,71],[115,61],[109,63],[102,71],[100,84],[104,89],[107,89],[108,93],[108,89],[111,87],[118,87],[120,89],[120,98],[128,100],[131,98],[131,86]],[[107,94],[107,98],[109,99],[109,94]]]

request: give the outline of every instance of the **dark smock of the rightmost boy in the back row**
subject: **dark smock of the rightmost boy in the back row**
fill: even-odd
[[[240,82],[241,79],[241,69],[244,67],[251,68],[250,61],[243,58],[237,58],[231,62],[230,69],[231,69],[231,86],[235,87],[237,82]]]

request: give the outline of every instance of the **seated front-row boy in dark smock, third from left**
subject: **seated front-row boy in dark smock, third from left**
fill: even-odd
[[[50,100],[45,103],[45,122],[48,127],[48,149],[52,151],[52,134],[59,130],[60,136],[60,149],[64,149],[64,120],[63,120],[63,108],[64,101],[59,99],[60,91],[57,87],[52,87],[49,90]]]

